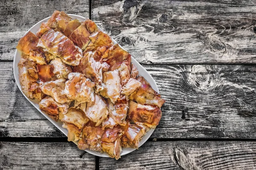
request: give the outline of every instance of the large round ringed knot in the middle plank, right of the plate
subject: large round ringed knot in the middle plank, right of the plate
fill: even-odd
[[[210,91],[218,85],[218,75],[208,65],[193,65],[188,68],[188,84],[196,91]]]

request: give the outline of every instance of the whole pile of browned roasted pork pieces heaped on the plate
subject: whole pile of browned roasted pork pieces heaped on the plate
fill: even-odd
[[[17,49],[23,93],[63,122],[68,141],[79,149],[119,159],[122,147],[137,148],[158,125],[165,100],[138,75],[131,55],[93,21],[54,11]]]

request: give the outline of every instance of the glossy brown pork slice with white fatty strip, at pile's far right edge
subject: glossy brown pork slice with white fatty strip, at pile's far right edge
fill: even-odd
[[[141,122],[148,127],[155,128],[161,119],[161,109],[154,105],[140,105],[129,101],[128,118],[134,122]]]

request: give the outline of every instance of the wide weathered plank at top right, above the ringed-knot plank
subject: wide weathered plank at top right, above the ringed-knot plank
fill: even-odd
[[[256,4],[92,0],[92,20],[140,63],[255,63]]]

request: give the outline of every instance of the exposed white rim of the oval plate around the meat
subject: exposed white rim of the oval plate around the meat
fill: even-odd
[[[86,20],[86,19],[88,19],[88,18],[86,18],[86,17],[83,17],[83,16],[80,16],[80,15],[76,15],[76,14],[68,14],[72,19],[78,19],[79,20],[79,18],[81,19],[81,20]],[[37,22],[35,25],[33,25],[31,28],[29,28],[29,30],[28,31],[26,31],[26,33],[25,34],[27,34],[29,31],[31,31],[33,28],[35,28],[35,27],[40,27],[40,25],[41,25],[41,23],[43,23],[43,22],[46,22],[46,20],[48,20],[49,18],[50,18],[51,16],[49,16],[49,17],[46,17],[46,18],[44,18],[43,20],[41,20],[41,21],[39,21],[39,22]],[[74,17],[76,17],[76,18],[74,18]],[[81,21],[81,20],[79,20],[79,21]],[[98,25],[97,25],[98,26]],[[100,28],[99,26],[98,26],[98,28],[101,30],[101,31],[103,31],[103,32],[105,32],[102,28]],[[106,33],[106,32],[105,32]],[[24,35],[25,35],[24,34]],[[107,33],[106,33],[107,34]],[[24,36],[23,35],[23,36]],[[22,37],[23,37],[22,36]],[[110,35],[109,35],[110,36]],[[110,36],[111,37],[111,36]],[[112,37],[111,37],[111,40],[114,42],[114,44],[117,44],[117,42],[116,42],[116,40],[114,40]],[[120,44],[119,44],[119,46],[123,49],[123,50],[125,50]],[[125,50],[126,51],[126,50]],[[65,128],[63,128],[63,127],[58,127],[58,125],[57,125],[57,122],[55,122],[54,120],[52,120],[46,113],[44,113],[44,111],[41,111],[41,109],[38,107],[38,104],[36,103],[37,101],[35,100],[35,99],[30,99],[29,97],[27,97],[24,93],[23,93],[23,91],[21,90],[21,86],[20,86],[20,81],[19,81],[19,78],[18,78],[18,74],[15,74],[15,73],[18,73],[18,68],[17,68],[17,63],[19,62],[17,62],[17,53],[19,53],[18,51],[17,51],[17,49],[15,50],[15,54],[14,54],[14,59],[13,59],[13,74],[14,74],[14,78],[15,78],[15,82],[16,82],[16,84],[17,84],[17,86],[18,86],[18,88],[20,89],[20,91],[21,91],[21,93],[23,94],[23,96],[25,96],[25,98],[41,113],[41,114],[43,114],[55,127],[57,127],[62,133],[64,133],[64,135],[65,136],[67,136],[67,129],[65,129]],[[139,74],[140,73],[145,73],[146,75],[147,75],[147,77],[150,79],[150,85],[151,85],[151,87],[155,90],[155,91],[157,91],[157,93],[159,93],[159,89],[158,89],[158,87],[157,87],[157,83],[155,82],[155,80],[154,80],[154,78],[151,76],[151,74],[149,74],[149,72],[136,60],[136,59],[134,59],[134,57],[132,57],[131,56],[131,62],[132,63],[134,63],[137,67],[138,67],[138,69],[140,68],[140,70],[143,70],[143,72],[141,72],[141,71],[139,71]],[[144,77],[144,76],[143,76]],[[145,78],[145,77],[144,77]],[[148,78],[145,78],[147,81],[148,81]],[[149,82],[149,81],[148,81]],[[153,85],[152,85],[153,84]],[[147,133],[146,133],[146,135],[145,136],[143,136],[143,139],[141,139],[140,140],[140,143],[139,143],[139,147],[140,146],[142,146],[149,138],[150,138],[150,136],[152,135],[152,133],[154,132],[154,129],[150,129]],[[76,145],[77,145],[77,142],[74,142]],[[139,148],[138,147],[138,148]],[[137,148],[137,149],[138,149]],[[122,148],[122,153],[121,153],[121,156],[124,156],[124,155],[126,155],[126,154],[128,154],[128,153],[131,153],[131,152],[133,152],[134,150],[137,150],[137,149],[134,149],[134,148]],[[124,153],[124,150],[126,151],[125,153]],[[85,150],[87,153],[90,153],[90,154],[92,154],[92,155],[95,155],[95,156],[100,156],[100,157],[110,157],[110,156],[108,156],[108,154],[107,153],[99,153],[99,152],[96,152],[96,151],[93,151],[93,150]]]

